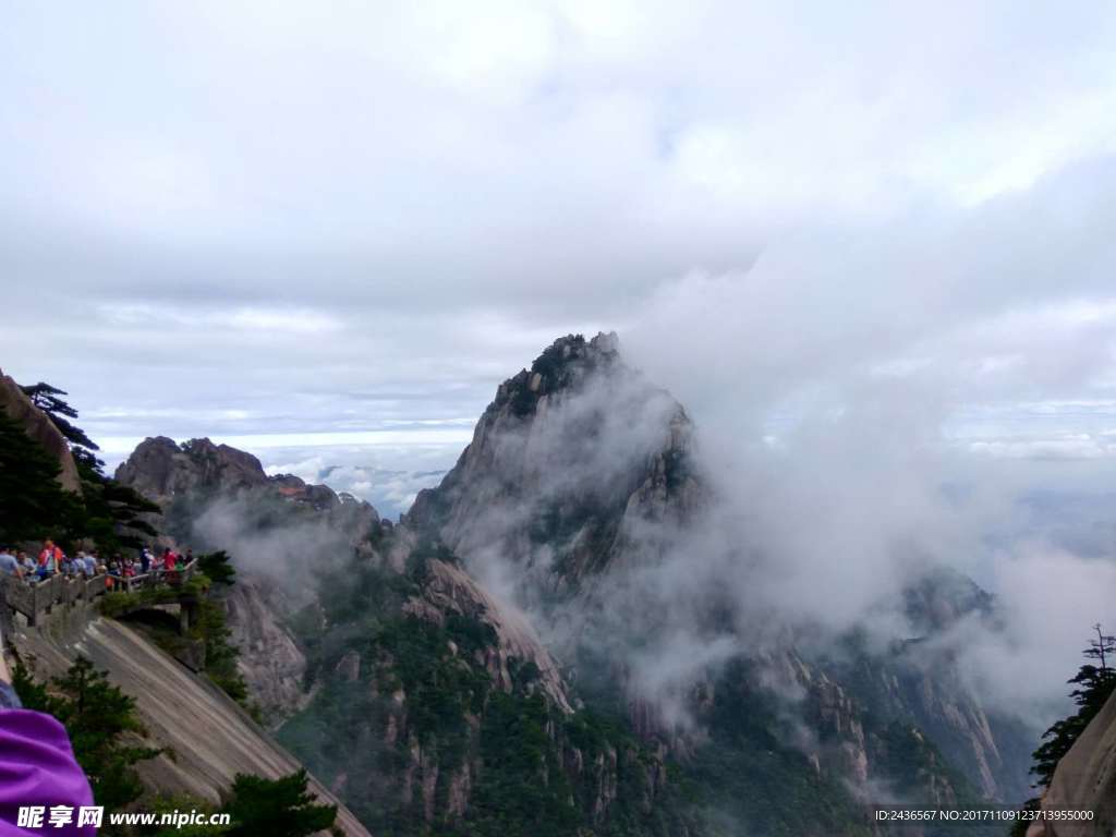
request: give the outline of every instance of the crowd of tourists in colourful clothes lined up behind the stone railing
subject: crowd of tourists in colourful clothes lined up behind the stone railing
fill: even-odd
[[[21,549],[0,547],[0,575],[16,576],[28,584],[38,584],[55,576],[135,578],[150,573],[160,575],[175,573],[180,565],[190,564],[192,560],[193,550],[187,549],[185,555],[180,556],[170,547],[157,557],[151,547],[144,547],[138,558],[116,554],[105,559],[95,549],[88,551],[79,549],[70,557],[52,540],[47,540],[37,557]]]

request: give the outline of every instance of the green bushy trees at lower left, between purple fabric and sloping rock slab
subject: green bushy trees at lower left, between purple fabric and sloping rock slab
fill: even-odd
[[[134,766],[161,751],[134,743],[145,733],[135,701],[110,685],[92,662],[78,657],[65,676],[49,685],[36,684],[26,668],[17,666],[12,684],[27,709],[48,712],[66,727],[97,805],[118,810],[141,797],[143,786]]]

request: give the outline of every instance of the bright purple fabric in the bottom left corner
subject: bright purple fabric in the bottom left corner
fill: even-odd
[[[93,805],[89,781],[74,759],[66,729],[50,715],[23,709],[0,710],[0,837],[60,835],[93,837],[93,826],[78,828],[81,806]],[[19,809],[42,806],[42,828],[19,828]],[[73,821],[49,825],[52,806],[73,808]]]

